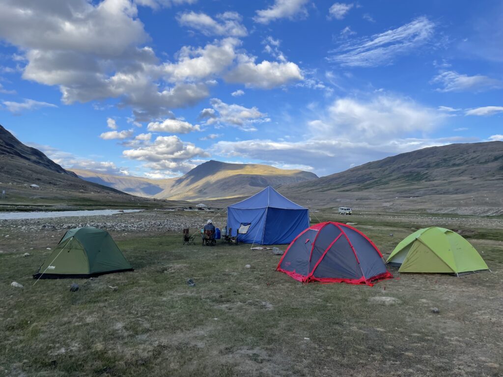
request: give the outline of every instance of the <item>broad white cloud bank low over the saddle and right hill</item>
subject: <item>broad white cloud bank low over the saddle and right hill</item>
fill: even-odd
[[[468,140],[421,138],[442,123],[442,114],[391,96],[367,101],[342,98],[317,113],[321,116],[307,122],[301,141],[222,140],[213,145],[211,152],[224,158],[306,165],[318,174],[327,174],[344,170],[351,163],[361,164],[422,147]]]

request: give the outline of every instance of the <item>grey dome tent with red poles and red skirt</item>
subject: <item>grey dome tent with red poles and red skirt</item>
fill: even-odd
[[[331,221],[313,225],[288,246],[277,271],[302,282],[366,284],[392,278],[376,245],[359,230]]]

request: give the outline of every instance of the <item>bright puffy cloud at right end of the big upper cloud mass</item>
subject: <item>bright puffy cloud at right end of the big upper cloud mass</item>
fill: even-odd
[[[299,66],[292,62],[264,60],[255,64],[255,57],[239,55],[237,66],[224,76],[225,80],[243,83],[246,87],[272,89],[291,81],[302,80]]]

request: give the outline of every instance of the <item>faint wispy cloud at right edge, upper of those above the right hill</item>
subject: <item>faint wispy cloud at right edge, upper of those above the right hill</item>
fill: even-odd
[[[437,91],[483,91],[503,87],[503,82],[480,74],[468,76],[456,71],[445,71],[435,76],[431,83],[441,84]]]

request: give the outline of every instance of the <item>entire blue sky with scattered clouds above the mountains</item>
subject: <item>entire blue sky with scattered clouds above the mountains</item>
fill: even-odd
[[[503,2],[2,0],[0,124],[65,168],[319,176],[503,140]]]

